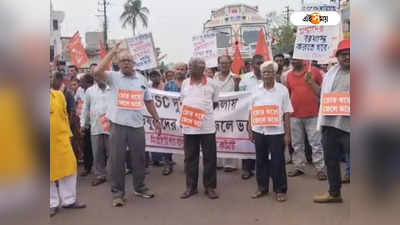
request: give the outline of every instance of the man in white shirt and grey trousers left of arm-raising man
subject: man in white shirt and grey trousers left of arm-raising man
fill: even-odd
[[[96,178],[92,186],[97,186],[106,181],[107,159],[110,152],[110,123],[106,118],[108,97],[110,88],[104,81],[96,80],[96,83],[88,88],[85,93],[85,101],[81,115],[82,130],[90,128],[94,174]]]

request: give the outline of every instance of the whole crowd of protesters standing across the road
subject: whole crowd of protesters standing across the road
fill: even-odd
[[[255,144],[256,159],[242,160],[242,178],[256,173],[257,190],[251,196],[260,198],[269,192],[272,178],[277,201],[287,200],[287,176],[305,173],[306,149],[319,180],[328,179],[329,191],[316,196],[315,202],[341,202],[342,181],[349,182],[350,116],[321,114],[320,102],[327,93],[350,92],[350,42],[343,40],[336,50],[337,65],[325,73],[304,60],[291,59],[285,66],[283,55],[265,61],[255,55],[250,72],[240,76],[231,71],[228,55],[218,58],[218,72],[206,68],[201,58],[189,64],[177,63],[163,76],[149,74],[150,82],[138,70],[127,50],[116,46],[99,65],[91,65],[80,76],[75,66],[68,73],[54,68],[50,89],[50,215],[63,208],[84,208],[76,200],[77,159],[83,160],[86,176],[94,167],[93,186],[111,183],[112,204],[126,203],[125,175],[132,173],[134,194],[153,198],[145,185],[146,167],[163,165],[162,174],[173,172],[171,153],[145,152],[145,107],[153,119],[155,132],[161,134],[161,123],[153,102],[151,88],[179,92],[182,111],[186,108],[203,113],[199,128],[182,127],[186,190],[182,199],[198,193],[199,156],[203,155],[204,192],[210,199],[218,198],[217,168],[232,172],[239,168],[237,159],[217,159],[214,109],[221,92],[252,93],[247,131]],[[119,71],[106,71],[113,58],[118,58]],[[326,68],[324,68],[326,69]],[[78,77],[80,79],[78,79]],[[276,124],[260,124],[255,120],[257,109],[278,112]],[[72,130],[72,132],[71,132]],[[285,150],[292,152],[294,170],[286,174]],[[75,153],[75,154],[74,154]],[[342,179],[340,163],[346,158],[346,178]],[[58,190],[58,191],[57,191]]]

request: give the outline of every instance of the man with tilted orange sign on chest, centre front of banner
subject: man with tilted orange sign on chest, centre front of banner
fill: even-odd
[[[205,62],[201,58],[190,61],[190,77],[181,87],[182,109],[179,119],[183,127],[185,149],[186,191],[182,199],[197,194],[200,148],[203,152],[203,184],[210,199],[218,198],[217,144],[215,139],[214,109],[218,106],[219,87],[204,76]]]

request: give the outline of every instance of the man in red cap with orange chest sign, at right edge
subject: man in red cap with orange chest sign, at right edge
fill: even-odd
[[[316,203],[343,201],[340,192],[340,161],[343,151],[350,152],[350,40],[339,43],[336,58],[339,64],[325,74],[322,82],[317,125],[318,129],[322,128],[329,191],[316,196]],[[332,102],[337,103],[337,107],[328,107]]]

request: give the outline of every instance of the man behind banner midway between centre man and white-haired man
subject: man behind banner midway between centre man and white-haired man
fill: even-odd
[[[229,55],[223,55],[218,57],[219,72],[214,76],[214,80],[220,87],[220,92],[232,92],[235,91],[235,79],[236,74],[231,72],[232,58]],[[224,168],[225,172],[233,172],[237,169],[239,161],[237,159],[218,159],[217,168]]]

